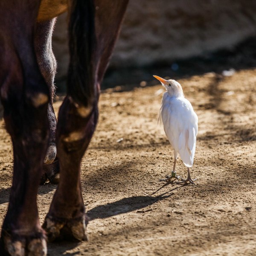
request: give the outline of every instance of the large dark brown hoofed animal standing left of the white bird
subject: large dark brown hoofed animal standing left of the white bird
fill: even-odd
[[[46,255],[46,238],[86,240],[80,163],[98,120],[99,88],[128,0],[1,0],[0,99],[14,173],[0,255]],[[55,17],[69,13],[67,96],[52,108]],[[56,131],[56,132],[55,132]],[[43,228],[36,204],[44,163],[60,180]]]

